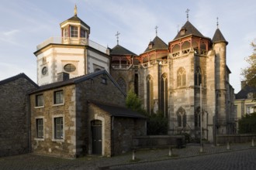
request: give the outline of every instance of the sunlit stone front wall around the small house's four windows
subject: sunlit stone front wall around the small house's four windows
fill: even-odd
[[[63,90],[64,104],[54,104],[54,91],[57,90]],[[36,94],[43,94],[43,107],[35,107]],[[30,96],[30,106],[33,153],[75,158],[77,150],[74,85],[35,93]],[[54,117],[63,117],[63,139],[54,138]],[[36,136],[36,118],[43,118],[43,138]]]

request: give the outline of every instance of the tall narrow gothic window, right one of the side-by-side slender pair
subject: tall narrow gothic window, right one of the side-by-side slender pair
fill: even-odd
[[[168,113],[168,79],[167,74],[161,75],[160,97],[159,97],[159,110],[166,116]]]

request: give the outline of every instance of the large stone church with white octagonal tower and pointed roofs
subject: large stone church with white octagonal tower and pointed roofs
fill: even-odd
[[[168,134],[199,137],[202,127],[202,138],[214,141],[216,134],[234,130],[228,42],[218,24],[209,38],[187,17],[170,42],[156,35],[140,55],[119,42],[112,49],[93,42],[90,27],[78,18],[76,7],[74,16],[60,26],[61,37],[47,39],[34,53],[39,85],[56,82],[63,72],[73,78],[106,70],[124,92],[137,93],[148,113],[164,114]]]

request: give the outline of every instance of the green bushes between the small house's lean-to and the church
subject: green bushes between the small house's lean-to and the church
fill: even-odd
[[[168,132],[168,118],[164,117],[164,114],[148,114],[142,107],[139,97],[133,90],[130,90],[126,97],[126,107],[144,114],[147,118],[147,134],[148,135],[161,135]]]

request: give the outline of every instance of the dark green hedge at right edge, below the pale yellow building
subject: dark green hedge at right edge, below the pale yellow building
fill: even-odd
[[[256,133],[256,113],[246,114],[238,121],[238,132],[240,134]]]

